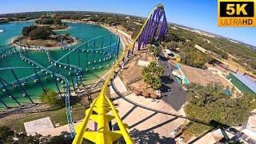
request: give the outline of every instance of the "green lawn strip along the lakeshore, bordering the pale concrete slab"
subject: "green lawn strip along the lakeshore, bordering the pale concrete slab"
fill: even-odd
[[[78,104],[73,106],[72,110],[72,118],[73,121],[78,121],[82,119],[85,116],[85,109],[83,106],[80,106]],[[46,111],[42,113],[37,114],[30,114],[28,116],[23,116],[21,118],[16,119],[10,119],[6,121],[1,121],[0,126],[9,126],[12,130],[16,130],[17,132],[23,132],[25,131],[24,122],[30,122],[33,120],[36,120],[38,118],[45,118],[50,117],[51,122],[55,125],[55,123],[59,123],[61,126],[66,125],[66,109],[61,108],[59,110],[53,110],[53,111]]]

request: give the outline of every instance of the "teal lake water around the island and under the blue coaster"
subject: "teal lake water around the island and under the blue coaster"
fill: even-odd
[[[6,54],[5,58],[0,58],[0,68],[17,66],[33,67],[31,63],[24,62],[18,53],[12,54],[8,46],[6,46],[10,43],[11,38],[21,35],[22,27],[33,24],[34,22],[11,22],[0,25],[0,30],[4,30],[3,33],[0,33],[0,54]],[[62,58],[64,54],[69,53],[70,50],[74,50],[75,48],[79,47],[79,52],[74,50],[68,55],[68,58],[63,57],[59,62],[66,64],[70,63],[71,65],[81,67],[83,70],[83,84],[94,82],[97,78],[101,77],[103,74],[106,74],[106,71],[109,70],[111,64],[116,60],[118,54],[122,53],[122,45],[118,45],[117,36],[102,26],[79,23],[68,23],[68,25],[70,25],[69,30],[58,31],[58,33],[70,33],[73,37],[79,39],[78,44],[68,46],[68,50],[49,50],[50,57],[54,60],[58,60],[59,58]],[[18,48],[16,48],[16,50],[18,51]],[[14,49],[12,52],[14,52]],[[49,67],[49,70],[65,76],[69,80],[70,89],[74,90],[75,85],[73,85],[73,83],[76,83],[76,76],[73,70],[65,69],[64,65],[54,66],[48,61],[46,53],[42,51],[27,50],[22,52],[22,54],[26,56],[26,58],[30,58],[44,67]],[[50,74],[40,73],[39,71],[40,70],[38,70],[38,74],[41,76],[40,80],[42,81],[43,86],[47,89],[57,91],[54,78],[51,78]],[[69,74],[70,72],[71,75]],[[20,79],[34,74],[34,70],[14,69],[14,74],[16,74]],[[6,82],[15,81],[14,75],[11,74],[10,70],[0,70],[0,78]],[[61,88],[62,83],[58,82],[58,86]],[[42,94],[43,92],[40,82],[33,82],[33,80],[31,80],[26,82],[26,86],[22,87],[24,90],[26,90],[26,93],[34,102],[38,102],[39,94]],[[77,86],[75,87],[77,88]],[[61,90],[63,91],[62,88]],[[18,102],[21,105],[31,103],[28,97],[22,96],[22,88],[18,86],[18,84],[16,88],[9,86],[7,88],[7,92],[8,91],[13,94],[14,98],[9,98],[6,91],[4,92],[1,90],[0,93],[1,101],[7,106],[18,106]],[[18,102],[16,102],[14,99],[16,99]],[[0,109],[6,108],[2,102],[0,102]]]

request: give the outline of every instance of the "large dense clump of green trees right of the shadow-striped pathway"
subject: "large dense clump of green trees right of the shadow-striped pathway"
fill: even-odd
[[[230,98],[224,94],[223,87],[196,83],[187,86],[186,116],[208,124],[193,122],[187,132],[198,136],[215,126],[241,126],[246,121],[250,111],[256,108],[254,97],[244,94],[240,98]]]

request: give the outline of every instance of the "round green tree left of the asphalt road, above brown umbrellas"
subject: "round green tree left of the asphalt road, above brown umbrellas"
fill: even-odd
[[[156,62],[150,62],[149,66],[142,69],[142,78],[144,82],[152,86],[154,89],[158,89],[162,84],[163,69],[161,66],[157,66]]]

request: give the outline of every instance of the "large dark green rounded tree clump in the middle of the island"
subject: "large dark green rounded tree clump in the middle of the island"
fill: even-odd
[[[30,39],[47,39],[50,37],[50,34],[54,34],[53,30],[50,26],[42,26],[38,27],[34,30],[30,31],[29,37]]]

